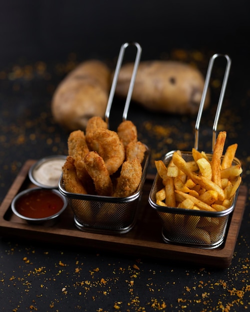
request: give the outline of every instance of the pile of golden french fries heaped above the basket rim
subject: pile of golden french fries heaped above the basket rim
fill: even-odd
[[[174,152],[168,165],[155,160],[163,183],[156,192],[156,203],[206,211],[228,209],[241,184],[242,167],[233,163],[237,144],[229,146],[223,157],[226,136],[226,132],[219,133],[211,159],[193,149],[191,161],[185,161],[180,151]]]

